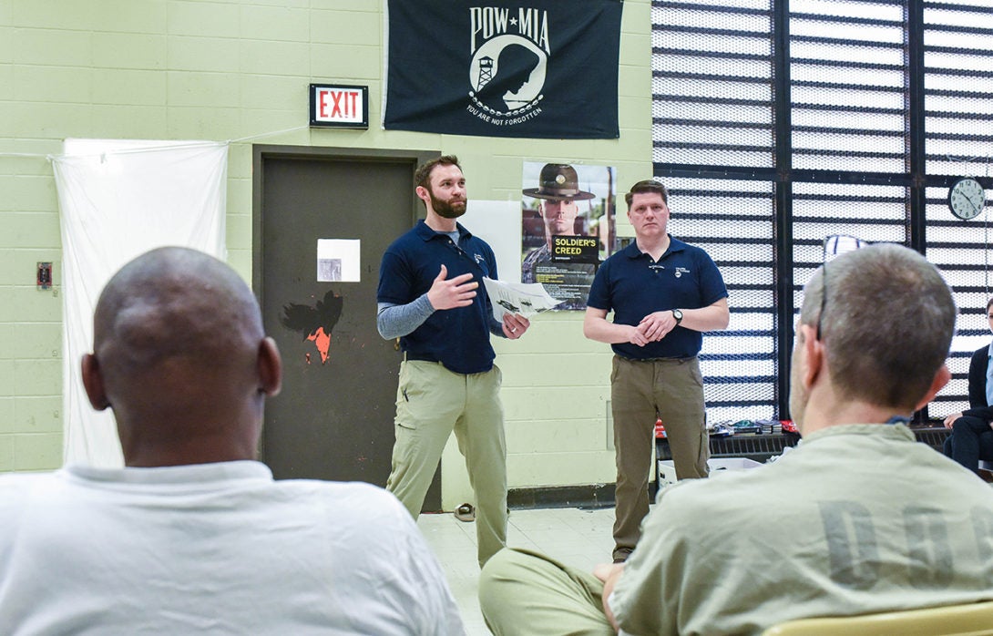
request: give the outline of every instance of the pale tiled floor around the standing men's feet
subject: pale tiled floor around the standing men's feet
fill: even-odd
[[[506,543],[511,548],[536,550],[592,570],[597,563],[611,559],[613,525],[613,508],[513,510]],[[477,596],[480,567],[476,561],[476,524],[461,522],[448,513],[421,515],[417,527],[448,576],[467,634],[487,636],[490,630],[483,622]]]

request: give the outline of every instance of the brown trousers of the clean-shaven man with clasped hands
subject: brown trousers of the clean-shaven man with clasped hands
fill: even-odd
[[[614,446],[618,467],[614,557],[627,558],[648,514],[648,476],[655,419],[661,417],[676,477],[707,476],[703,377],[694,358],[633,361],[614,356],[611,374]]]

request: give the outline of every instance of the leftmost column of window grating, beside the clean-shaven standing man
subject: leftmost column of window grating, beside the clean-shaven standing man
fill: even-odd
[[[700,354],[708,418],[773,417],[778,401],[773,36],[768,0],[652,5],[653,153],[669,232],[707,250],[728,285],[731,324]],[[754,168],[732,175],[720,166]],[[729,240],[729,239],[734,239]]]

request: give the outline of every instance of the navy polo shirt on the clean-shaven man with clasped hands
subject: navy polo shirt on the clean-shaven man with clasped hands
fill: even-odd
[[[600,265],[590,286],[587,306],[614,311],[614,322],[637,326],[655,311],[699,309],[721,298],[728,288],[706,251],[669,237],[669,248],[655,262],[638,243],[614,253]],[[658,342],[638,347],[630,342],[611,345],[625,358],[690,358],[700,353],[703,334],[676,327]]]

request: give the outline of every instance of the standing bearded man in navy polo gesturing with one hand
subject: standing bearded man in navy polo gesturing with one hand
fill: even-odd
[[[455,431],[476,493],[480,566],[506,544],[506,445],[500,372],[490,334],[516,340],[530,323],[493,316],[484,276],[497,279],[485,240],[456,219],[466,179],[452,155],[414,174],[427,216],[386,248],[376,294],[379,334],[400,339],[393,468],[386,482],[417,519],[449,435]]]

